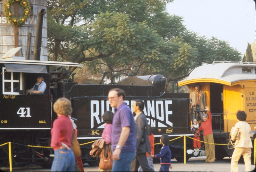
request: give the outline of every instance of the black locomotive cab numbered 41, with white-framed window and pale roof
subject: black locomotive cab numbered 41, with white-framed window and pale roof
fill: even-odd
[[[42,158],[35,153],[38,148],[16,144],[50,146],[53,116],[49,66],[52,65],[82,66],[67,62],[0,59],[0,144],[14,143],[12,152],[15,164],[26,164],[27,160],[40,164],[38,162],[49,159],[49,151]],[[44,93],[26,94],[26,90],[31,89],[37,82],[38,74],[44,76]],[[6,156],[8,149],[2,148],[0,166],[8,164],[9,161]]]

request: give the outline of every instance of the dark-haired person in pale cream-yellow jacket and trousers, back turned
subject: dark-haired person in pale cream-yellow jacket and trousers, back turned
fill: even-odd
[[[231,171],[238,171],[237,163],[241,155],[244,157],[245,171],[251,171],[252,140],[249,134],[251,127],[245,122],[246,117],[247,115],[244,111],[238,111],[236,113],[238,122],[235,125],[235,129],[231,131],[231,139],[236,139],[238,131],[240,131],[240,138],[235,142],[235,150],[231,159]]]

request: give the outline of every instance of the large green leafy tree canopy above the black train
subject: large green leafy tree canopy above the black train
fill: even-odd
[[[172,1],[48,0],[50,60],[83,63],[101,74],[100,83],[131,71],[163,74],[170,82],[202,64],[242,60],[226,41],[199,36],[165,12]]]

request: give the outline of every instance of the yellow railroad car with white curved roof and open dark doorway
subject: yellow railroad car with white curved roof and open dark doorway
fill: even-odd
[[[237,122],[236,112],[238,110],[245,111],[246,122],[250,124],[251,131],[254,131],[256,122],[255,63],[214,61],[212,64],[194,69],[188,78],[179,82],[179,86],[186,85],[192,92],[195,90],[195,83],[199,83],[201,90],[205,91],[206,105],[210,107],[211,113],[220,114],[212,118],[215,142],[227,143],[228,132]],[[232,156],[233,151],[227,150],[226,145],[223,147],[226,147],[224,149],[228,156]],[[223,156],[224,154],[219,155],[219,159]]]

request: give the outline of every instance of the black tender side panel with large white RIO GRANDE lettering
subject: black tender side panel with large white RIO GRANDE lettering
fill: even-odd
[[[134,100],[127,98],[124,101],[132,112]],[[154,135],[191,134],[188,130],[188,122],[190,122],[188,98],[141,98],[141,100],[145,103],[143,113],[148,124],[153,128]],[[77,119],[78,137],[100,137],[105,126],[103,113],[109,110],[115,113],[109,101],[90,97],[74,98],[72,101],[74,101],[73,114]]]

